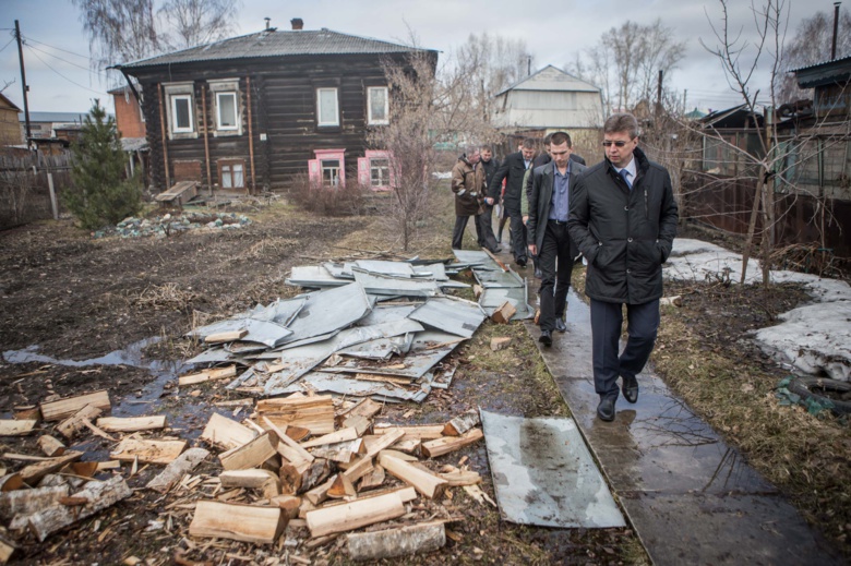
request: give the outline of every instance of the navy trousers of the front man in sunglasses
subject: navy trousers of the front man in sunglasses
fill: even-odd
[[[659,299],[626,304],[626,347],[618,356],[623,309],[621,303],[591,299],[594,387],[600,398],[618,399],[618,377],[635,377],[647,363],[659,329]]]

